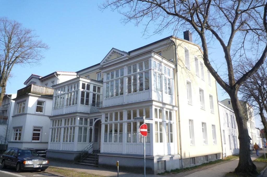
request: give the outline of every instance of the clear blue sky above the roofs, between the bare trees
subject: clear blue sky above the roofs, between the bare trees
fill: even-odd
[[[99,63],[112,47],[130,51],[172,35],[172,31],[164,31],[149,38],[143,37],[144,26],[123,25],[120,22],[122,16],[116,11],[99,10],[101,2],[0,0],[0,17],[16,20],[23,27],[36,30],[40,39],[50,47],[43,53],[45,58],[40,65],[13,68],[6,92],[16,93],[23,88],[32,73],[45,76],[54,71],[78,71]],[[183,38],[182,33],[177,37]],[[223,55],[218,57],[218,52],[211,49],[210,55],[216,63],[222,63]],[[229,96],[218,87],[218,99],[225,98]]]

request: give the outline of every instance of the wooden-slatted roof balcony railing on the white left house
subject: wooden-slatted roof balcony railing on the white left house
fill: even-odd
[[[33,93],[37,95],[45,95],[45,96],[51,96],[53,97],[54,89],[48,88],[48,87],[42,87],[38,85],[29,85],[27,87],[24,87],[22,89],[19,89],[17,91],[17,97],[27,94],[27,93]]]

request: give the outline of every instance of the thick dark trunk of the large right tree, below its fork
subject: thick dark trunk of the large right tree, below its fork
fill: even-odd
[[[235,119],[238,127],[238,139],[239,139],[239,162],[235,168],[235,173],[257,174],[256,165],[253,164],[250,158],[249,150],[249,133],[247,127],[246,116],[243,112],[243,107],[239,102],[237,91],[233,91],[229,94],[231,103],[235,113]]]

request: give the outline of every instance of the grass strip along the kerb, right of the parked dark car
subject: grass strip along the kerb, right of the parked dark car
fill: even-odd
[[[93,175],[85,172],[78,172],[75,170],[67,170],[63,168],[55,168],[55,167],[48,167],[46,172],[56,172],[57,175],[60,174],[62,176],[68,176],[68,177],[100,177],[99,175]]]

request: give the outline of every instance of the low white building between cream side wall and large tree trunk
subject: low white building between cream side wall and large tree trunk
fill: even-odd
[[[239,154],[238,128],[234,110],[219,102],[223,157]]]

